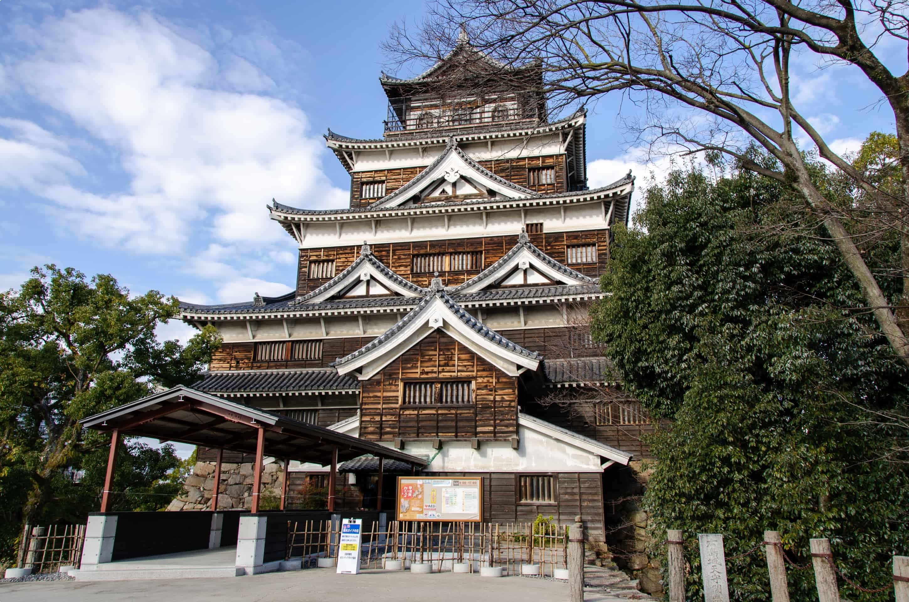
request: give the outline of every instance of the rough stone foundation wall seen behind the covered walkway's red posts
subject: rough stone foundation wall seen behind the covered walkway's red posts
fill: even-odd
[[[221,464],[221,487],[218,487],[218,510],[253,507],[252,462]],[[281,478],[284,467],[275,460],[267,461],[262,468],[262,499],[259,507],[270,509],[271,500],[281,497]],[[212,488],[215,487],[215,463],[196,462],[193,474],[186,477],[183,493],[167,507],[175,510],[211,510]],[[275,505],[275,507],[277,507]]]

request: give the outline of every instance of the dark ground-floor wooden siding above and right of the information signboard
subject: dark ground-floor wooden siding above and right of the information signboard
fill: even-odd
[[[483,477],[483,519],[492,523],[533,522],[537,515],[553,517],[559,525],[581,515],[590,537],[603,540],[603,473],[421,473],[430,477]],[[552,475],[553,504],[518,502],[520,475]]]

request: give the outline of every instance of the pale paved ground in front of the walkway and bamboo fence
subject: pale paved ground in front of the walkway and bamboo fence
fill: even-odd
[[[528,577],[306,569],[271,575],[174,581],[55,581],[0,585],[0,602],[564,602],[561,582]],[[600,602],[603,597],[588,597]]]

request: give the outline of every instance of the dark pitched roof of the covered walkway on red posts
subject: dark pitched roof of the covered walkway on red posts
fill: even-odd
[[[222,448],[255,454],[263,432],[265,456],[331,464],[370,454],[423,467],[426,460],[392,447],[310,425],[255,407],[176,386],[124,406],[89,416],[82,425],[120,435],[147,436],[161,441]]]

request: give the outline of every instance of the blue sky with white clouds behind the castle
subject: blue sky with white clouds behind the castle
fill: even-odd
[[[295,246],[265,203],[345,204],[322,134],[382,134],[379,45],[424,6],[3,0],[0,288],[53,262],[202,303],[290,290]],[[864,77],[801,68],[796,98],[834,148],[893,131],[863,110],[878,98]],[[665,168],[623,144],[619,107],[590,115],[591,186]]]

